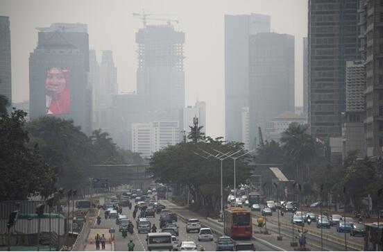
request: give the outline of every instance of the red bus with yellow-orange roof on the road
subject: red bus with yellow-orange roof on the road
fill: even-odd
[[[253,219],[250,211],[244,208],[232,207],[223,213],[223,231],[225,235],[235,238],[253,237]]]

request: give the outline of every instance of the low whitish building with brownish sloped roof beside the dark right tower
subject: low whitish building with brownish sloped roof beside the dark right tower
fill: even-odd
[[[292,122],[307,124],[307,120],[304,116],[296,115],[296,113],[290,111],[283,112],[267,124],[265,129],[266,140],[274,140],[275,142],[279,142],[280,137],[282,137],[282,133],[289,128],[289,125]]]

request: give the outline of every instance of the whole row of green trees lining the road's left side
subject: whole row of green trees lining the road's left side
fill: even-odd
[[[142,162],[101,129],[88,137],[73,121],[49,116],[26,121],[26,112],[8,113],[6,106],[0,96],[0,201],[49,196],[58,187],[84,188],[87,165]]]

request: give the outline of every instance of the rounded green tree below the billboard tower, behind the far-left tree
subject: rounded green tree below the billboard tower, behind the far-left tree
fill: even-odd
[[[40,117],[26,124],[31,144],[37,144],[44,160],[59,170],[60,187],[80,189],[87,183],[83,173],[92,162],[92,142],[71,120]]]

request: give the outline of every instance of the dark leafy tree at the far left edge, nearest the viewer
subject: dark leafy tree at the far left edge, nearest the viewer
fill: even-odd
[[[28,146],[25,117],[22,110],[0,117],[0,201],[49,196],[56,190],[58,171],[45,162],[37,145]]]

